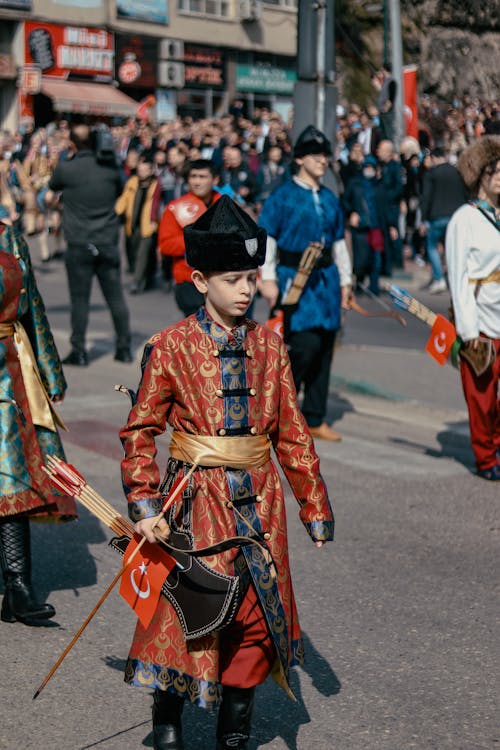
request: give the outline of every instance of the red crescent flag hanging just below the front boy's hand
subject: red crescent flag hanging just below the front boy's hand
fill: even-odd
[[[124,566],[142,539],[140,534],[134,534],[125,550]],[[163,582],[174,566],[175,560],[168,552],[145,542],[122,575],[120,596],[130,604],[144,628],[151,622]]]

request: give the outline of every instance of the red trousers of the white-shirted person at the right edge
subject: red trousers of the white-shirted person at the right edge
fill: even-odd
[[[493,367],[477,377],[467,362],[461,360],[460,374],[467,408],[472,450],[479,470],[499,463],[500,450],[500,339],[493,339],[497,358]]]

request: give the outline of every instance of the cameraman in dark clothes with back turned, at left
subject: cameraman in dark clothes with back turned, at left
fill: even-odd
[[[63,229],[68,245],[72,348],[63,363],[88,364],[85,334],[94,274],[113,319],[115,359],[131,362],[129,312],[120,278],[119,219],[114,210],[122,190],[120,172],[114,164],[98,161],[88,125],[73,125],[70,140],[75,154],[59,162],[49,182],[50,191],[62,192]]]

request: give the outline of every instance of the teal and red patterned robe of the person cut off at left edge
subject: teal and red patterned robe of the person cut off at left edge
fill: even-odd
[[[29,251],[11,227],[0,234],[0,323],[20,321],[51,399],[66,381],[38,291]],[[30,513],[74,518],[72,498],[52,488],[43,471],[47,455],[64,460],[59,434],[33,424],[13,336],[0,339],[0,516]]]

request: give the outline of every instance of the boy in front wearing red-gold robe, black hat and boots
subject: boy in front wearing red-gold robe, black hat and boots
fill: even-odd
[[[185,238],[205,305],[146,345],[137,400],[120,433],[129,514],[136,530],[155,541],[153,525],[162,507],[155,437],[168,422],[169,481],[193,464],[198,468],[160,531],[165,537],[169,528],[185,531],[196,549],[232,537],[253,541],[205,558],[210,569],[238,579],[232,622],[186,640],[176,611],[160,597],[150,625],[137,624],[125,679],[154,689],[157,750],[184,747],[185,699],[204,707],[220,704],[218,750],[246,748],[256,685],[272,673],[291,695],[289,668],[303,660],[285,501],[271,447],[316,546],[333,538],[334,521],[285,345],[245,318],[266,232],[223,196],[186,227]]]

